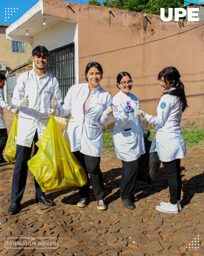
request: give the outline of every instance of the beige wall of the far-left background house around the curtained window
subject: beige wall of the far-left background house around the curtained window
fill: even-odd
[[[32,55],[32,46],[25,43],[25,53],[13,53],[12,41],[6,40],[7,26],[0,26],[0,63],[6,63],[6,67],[14,69],[28,61]],[[6,71],[0,71],[6,73]]]

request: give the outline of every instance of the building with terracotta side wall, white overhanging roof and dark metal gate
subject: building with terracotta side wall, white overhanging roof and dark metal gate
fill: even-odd
[[[141,109],[156,115],[162,91],[157,75],[175,66],[185,85],[188,108],[181,127],[204,124],[204,24],[164,23],[159,15],[78,3],[40,0],[6,29],[7,39],[45,45],[52,55],[48,70],[55,75],[63,97],[73,83],[84,82],[88,62],[104,69],[101,87],[112,97],[116,77],[128,71]],[[43,23],[46,23],[43,25]],[[26,31],[28,30],[28,35]],[[152,126],[144,120],[147,129]],[[110,124],[109,124],[110,125]]]

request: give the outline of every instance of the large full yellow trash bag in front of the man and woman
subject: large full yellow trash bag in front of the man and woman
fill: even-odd
[[[36,145],[39,150],[28,161],[28,168],[43,192],[86,185],[84,169],[71,152],[53,115]]]

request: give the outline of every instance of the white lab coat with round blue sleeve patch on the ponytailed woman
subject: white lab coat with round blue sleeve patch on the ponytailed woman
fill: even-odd
[[[186,156],[186,147],[180,128],[181,116],[182,104],[176,96],[168,94],[161,97],[156,117],[148,114],[144,116],[147,122],[156,125],[156,135],[150,152],[157,151],[163,162]]]

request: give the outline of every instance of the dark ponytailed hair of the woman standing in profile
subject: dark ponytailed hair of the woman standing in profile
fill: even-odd
[[[162,76],[164,77],[165,83],[173,83],[173,87],[176,88],[176,90],[168,91],[163,93],[163,95],[168,94],[177,96],[179,101],[182,103],[182,112],[184,112],[189,106],[187,105],[184,84],[180,80],[181,75],[179,74],[179,71],[175,67],[165,67],[159,72],[157,79],[161,80]]]

